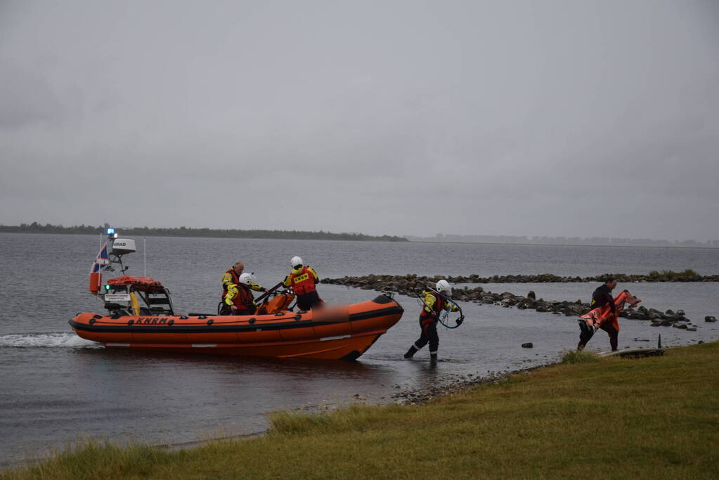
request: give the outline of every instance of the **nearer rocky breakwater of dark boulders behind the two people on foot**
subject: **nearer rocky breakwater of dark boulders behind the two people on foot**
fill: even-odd
[[[342,277],[336,279],[323,279],[322,283],[333,285],[344,285],[347,287],[361,288],[362,290],[377,290],[378,292],[393,292],[408,297],[417,297],[425,285],[434,285],[443,277],[421,277],[418,275],[366,275],[365,277]],[[464,278],[464,277],[446,277]],[[456,282],[456,280],[451,280]],[[554,313],[567,317],[578,317],[591,310],[589,303],[582,300],[544,300],[536,298],[534,292],[528,292],[526,296],[515,295],[510,292],[493,293],[481,286],[470,288],[452,288],[452,298],[463,302],[484,303],[487,305],[498,305],[504,308],[519,308],[521,310],[531,309],[539,313]],[[643,305],[631,310],[622,310],[619,313],[622,318],[630,320],[651,320],[651,326],[674,326],[688,331],[696,331],[696,326],[684,316],[684,310],[666,310],[661,312],[655,308],[646,308]],[[711,320],[707,320],[711,321]]]

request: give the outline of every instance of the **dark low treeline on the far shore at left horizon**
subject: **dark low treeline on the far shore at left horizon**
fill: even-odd
[[[42,225],[37,222],[20,225],[0,225],[0,232],[16,234],[101,234],[109,225],[62,226]],[[172,229],[152,229],[142,227],[117,227],[122,236],[206,236],[221,239],[288,239],[288,240],[358,240],[358,241],[408,241],[401,236],[372,236],[364,234],[333,234],[329,231],[298,230],[239,230],[239,229],[188,229],[180,226]]]

